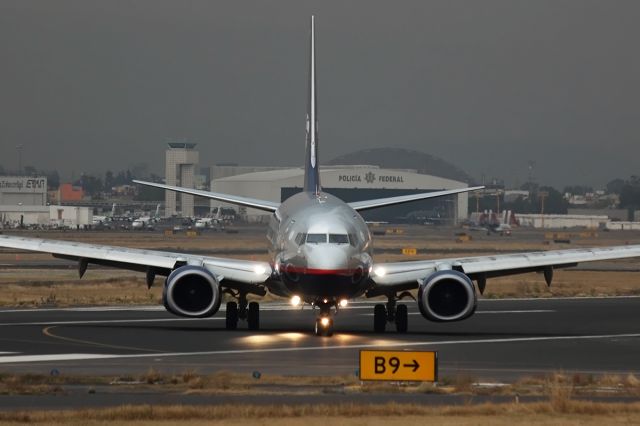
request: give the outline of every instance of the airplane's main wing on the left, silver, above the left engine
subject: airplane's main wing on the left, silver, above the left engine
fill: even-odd
[[[150,281],[153,281],[155,275],[169,275],[179,266],[196,265],[210,270],[223,285],[224,280],[246,284],[263,283],[272,272],[268,262],[9,235],[0,235],[0,247],[51,253],[57,258],[77,261],[81,277],[89,264],[146,272]]]

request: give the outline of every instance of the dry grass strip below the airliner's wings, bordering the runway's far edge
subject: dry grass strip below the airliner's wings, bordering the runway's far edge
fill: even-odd
[[[7,275],[5,275],[5,272]],[[147,289],[142,274],[117,270],[89,270],[80,280],[75,271],[4,270],[0,306],[159,305],[162,277]],[[634,272],[556,271],[547,287],[539,274],[494,278],[484,298],[640,295],[640,276]],[[283,299],[269,296],[262,301]]]

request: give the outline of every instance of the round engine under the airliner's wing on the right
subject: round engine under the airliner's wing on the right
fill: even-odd
[[[420,313],[431,321],[460,321],[473,315],[476,306],[476,289],[462,272],[438,271],[418,290]]]

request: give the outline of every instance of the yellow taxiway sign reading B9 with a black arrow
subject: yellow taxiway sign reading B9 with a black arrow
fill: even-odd
[[[438,353],[360,351],[360,380],[435,382],[438,380]]]

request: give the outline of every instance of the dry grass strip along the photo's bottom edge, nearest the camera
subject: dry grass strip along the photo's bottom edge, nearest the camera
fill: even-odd
[[[477,404],[429,406],[416,404],[317,404],[317,405],[217,405],[217,406],[121,406],[75,411],[20,411],[0,413],[3,424],[150,424],[184,422],[220,424],[228,421],[288,421],[289,424],[341,423],[424,424],[632,424],[640,421],[640,403],[606,404],[569,401],[528,404]]]

